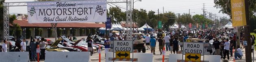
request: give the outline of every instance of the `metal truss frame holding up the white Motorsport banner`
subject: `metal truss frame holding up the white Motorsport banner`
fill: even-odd
[[[126,39],[132,40],[132,0],[107,0],[107,3],[126,3],[126,22],[127,22],[126,23],[126,29],[127,29]],[[27,6],[27,2],[4,2],[3,5],[4,5],[4,39],[9,41],[9,7]],[[53,25],[53,26],[55,27],[56,25]]]

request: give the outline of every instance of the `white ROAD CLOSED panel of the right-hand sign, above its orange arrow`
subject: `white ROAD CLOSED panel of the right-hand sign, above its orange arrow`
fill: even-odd
[[[193,42],[184,42],[184,51],[183,54],[201,54],[204,55],[204,43],[193,43]]]

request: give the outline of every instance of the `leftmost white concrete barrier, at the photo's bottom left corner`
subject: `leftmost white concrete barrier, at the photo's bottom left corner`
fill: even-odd
[[[29,62],[28,52],[0,52],[0,62]]]

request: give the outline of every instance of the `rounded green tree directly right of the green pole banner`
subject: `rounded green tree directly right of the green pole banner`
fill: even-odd
[[[175,23],[175,21],[176,21],[176,14],[174,13],[174,12],[166,12],[166,13],[164,13],[164,19],[165,19],[165,17],[167,18],[167,21],[162,21],[162,23],[163,23],[163,28],[164,29],[169,29],[169,27],[171,26],[171,25],[174,25],[174,23]],[[161,15],[160,15],[161,16]]]

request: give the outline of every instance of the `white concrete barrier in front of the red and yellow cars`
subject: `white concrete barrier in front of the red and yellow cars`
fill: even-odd
[[[45,62],[89,62],[90,52],[46,52]]]

